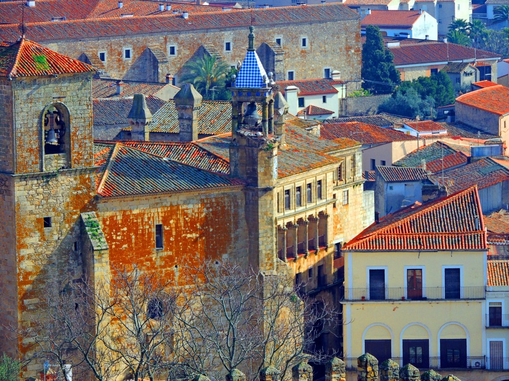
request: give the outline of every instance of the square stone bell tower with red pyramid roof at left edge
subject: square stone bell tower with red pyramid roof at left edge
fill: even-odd
[[[26,324],[46,292],[82,277],[79,218],[95,196],[95,69],[24,37],[0,55],[0,352],[23,358],[25,344],[6,339],[5,327]]]

